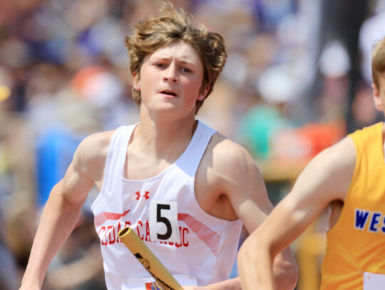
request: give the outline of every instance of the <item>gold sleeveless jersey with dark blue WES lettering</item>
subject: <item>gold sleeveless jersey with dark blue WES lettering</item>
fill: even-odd
[[[341,215],[327,232],[322,290],[363,289],[365,272],[385,274],[382,123],[357,130],[349,137],[356,146],[356,168]]]

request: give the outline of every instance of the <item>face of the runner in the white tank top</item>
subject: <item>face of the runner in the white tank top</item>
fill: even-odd
[[[146,56],[140,69],[142,105],[155,112],[179,112],[195,115],[195,103],[205,98],[200,93],[203,66],[189,43],[180,41]]]

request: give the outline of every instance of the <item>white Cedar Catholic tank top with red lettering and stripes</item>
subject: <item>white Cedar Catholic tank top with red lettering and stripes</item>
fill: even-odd
[[[146,180],[123,177],[135,125],[111,139],[103,187],[92,205],[108,290],[146,289],[153,278],[118,239],[130,226],[181,285],[228,279],[242,222],[207,214],[197,203],[195,172],[215,130],[199,122],[190,144],[167,170]],[[158,213],[158,216],[157,216]]]

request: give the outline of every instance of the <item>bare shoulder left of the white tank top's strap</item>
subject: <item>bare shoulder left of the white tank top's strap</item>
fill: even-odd
[[[98,181],[103,176],[108,147],[115,130],[94,133],[84,138],[73,156],[73,166]]]

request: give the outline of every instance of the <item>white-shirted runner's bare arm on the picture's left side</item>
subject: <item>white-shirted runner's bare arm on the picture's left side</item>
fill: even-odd
[[[63,180],[51,191],[41,215],[21,289],[41,289],[51,260],[75,227],[81,207],[94,185],[94,179],[88,174],[90,164],[95,163],[94,151],[90,147],[95,147],[93,138],[83,140]]]

